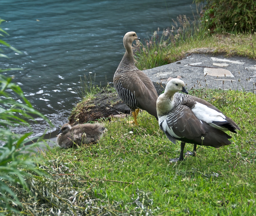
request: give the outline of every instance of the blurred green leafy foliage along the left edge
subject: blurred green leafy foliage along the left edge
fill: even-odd
[[[0,23],[3,20],[0,20]],[[0,28],[1,32],[7,34]],[[3,37],[2,34],[0,36]],[[0,40],[0,43],[9,49],[17,50]],[[19,52],[19,51],[18,51]],[[21,53],[21,52],[19,52]],[[8,57],[0,55],[0,57]],[[13,70],[13,68],[0,69],[3,71]],[[16,97],[20,102],[13,99]],[[28,125],[29,119],[39,116],[46,119],[44,115],[36,111],[30,102],[25,98],[21,88],[12,82],[12,77],[5,77],[0,74],[0,215],[22,214],[23,205],[13,191],[13,186],[28,189],[27,178],[35,175],[45,175],[37,167],[40,157],[32,157],[31,153],[41,141],[38,139],[33,145],[25,147],[30,139],[31,133],[24,135],[12,133],[12,128],[16,126]]]

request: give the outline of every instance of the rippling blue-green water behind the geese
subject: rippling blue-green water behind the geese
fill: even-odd
[[[10,34],[4,40],[24,54],[0,46],[10,57],[0,59],[0,68],[23,68],[5,75],[15,77],[27,99],[55,126],[49,128],[37,119],[31,124],[34,136],[68,122],[80,100],[81,77],[95,74],[96,83],[103,86],[113,81],[126,32],[135,31],[143,41],[158,27],[160,31],[171,27],[171,19],[179,14],[193,19],[192,2],[1,0],[0,16],[6,20],[1,27]]]

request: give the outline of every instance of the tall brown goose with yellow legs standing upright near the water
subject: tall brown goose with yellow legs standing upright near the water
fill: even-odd
[[[140,38],[134,31],[124,35],[125,54],[115,71],[113,83],[119,97],[131,109],[134,124],[140,109],[157,118],[156,99],[158,94],[150,78],[134,64],[132,42]]]

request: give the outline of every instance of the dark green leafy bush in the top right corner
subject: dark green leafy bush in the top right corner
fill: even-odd
[[[196,3],[204,2],[196,0]],[[256,1],[207,0],[202,16],[209,29],[217,32],[252,32],[256,29]],[[207,21],[205,21],[207,20]]]

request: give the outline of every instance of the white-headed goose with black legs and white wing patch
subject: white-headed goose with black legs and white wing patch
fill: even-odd
[[[156,101],[159,127],[173,143],[181,140],[179,158],[170,161],[184,159],[185,142],[194,144],[193,156],[195,156],[197,145],[215,148],[229,145],[231,142],[228,139],[231,136],[223,131],[237,133],[236,129],[241,130],[232,119],[214,105],[187,94],[184,82],[175,78],[167,83],[164,93]]]

